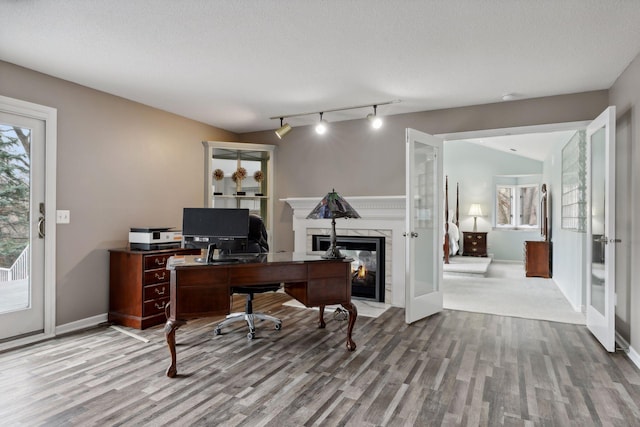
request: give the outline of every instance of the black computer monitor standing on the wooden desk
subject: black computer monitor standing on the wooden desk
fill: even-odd
[[[249,209],[184,208],[182,247],[207,249],[246,247],[249,235]]]

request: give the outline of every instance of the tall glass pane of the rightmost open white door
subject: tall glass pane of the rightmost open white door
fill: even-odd
[[[591,301],[593,308],[605,314],[605,129],[591,136]]]

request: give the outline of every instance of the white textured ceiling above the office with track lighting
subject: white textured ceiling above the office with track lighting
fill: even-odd
[[[238,133],[390,100],[402,102],[380,115],[608,89],[640,52],[632,0],[0,0],[0,10],[1,60]]]

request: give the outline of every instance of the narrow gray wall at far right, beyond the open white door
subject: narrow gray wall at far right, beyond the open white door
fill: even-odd
[[[616,329],[640,363],[640,56],[609,91],[616,106]]]

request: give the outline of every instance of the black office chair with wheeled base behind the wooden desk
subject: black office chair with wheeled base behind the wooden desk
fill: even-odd
[[[267,243],[267,229],[264,226],[262,218],[257,215],[249,216],[249,235],[247,239],[247,246],[244,251],[246,253],[266,253],[269,252],[269,244]],[[228,252],[233,253],[233,250]],[[282,321],[277,317],[269,316],[264,313],[253,312],[253,296],[254,294],[261,294],[265,292],[276,292],[280,289],[280,283],[272,283],[268,285],[257,286],[234,286],[231,288],[232,294],[246,294],[247,299],[245,302],[244,313],[231,313],[225,320],[218,323],[213,330],[215,335],[222,333],[221,329],[234,322],[245,320],[249,326],[248,339],[253,339],[256,336],[255,319],[269,320],[274,323],[276,330],[282,328]]]

